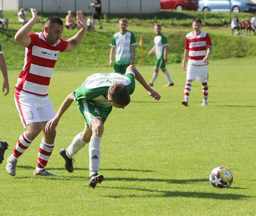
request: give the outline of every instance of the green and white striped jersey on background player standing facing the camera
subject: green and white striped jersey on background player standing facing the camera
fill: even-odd
[[[137,44],[132,32],[126,31],[124,34],[117,32],[112,37],[111,47],[116,48],[115,63],[130,64],[132,61],[131,46]]]

